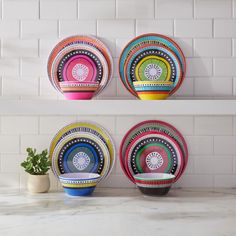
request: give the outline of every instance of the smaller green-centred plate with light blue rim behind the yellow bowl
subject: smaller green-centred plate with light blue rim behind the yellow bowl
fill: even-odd
[[[134,81],[171,81],[175,88],[182,79],[180,61],[172,51],[161,45],[134,50],[127,58],[124,70],[126,83],[133,94],[136,94]]]

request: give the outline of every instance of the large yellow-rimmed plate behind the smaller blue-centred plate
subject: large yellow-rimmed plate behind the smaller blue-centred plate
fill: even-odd
[[[100,125],[88,121],[80,121],[71,123],[61,130],[54,136],[52,139],[50,148],[49,148],[49,156],[52,159],[53,152],[58,145],[58,143],[62,142],[67,136],[78,134],[78,133],[87,133],[96,136],[108,149],[110,156],[110,166],[107,176],[111,173],[114,163],[115,163],[115,145],[110,136],[110,134]]]

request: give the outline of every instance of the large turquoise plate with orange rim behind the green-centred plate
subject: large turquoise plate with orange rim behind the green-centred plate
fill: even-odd
[[[177,43],[174,42],[169,37],[166,37],[161,34],[143,34],[143,35],[140,35],[140,36],[134,38],[125,46],[125,48],[123,49],[123,51],[121,53],[120,59],[119,59],[119,74],[120,74],[121,81],[122,81],[123,85],[126,87],[126,89],[128,89],[130,91],[129,86],[125,81],[124,67],[126,64],[126,60],[129,57],[129,55],[132,54],[133,50],[139,48],[140,46],[146,47],[149,44],[163,45],[163,46],[167,47],[178,57],[178,60],[181,63],[181,69],[182,69],[183,75],[182,75],[179,85],[176,86],[172,90],[172,94],[173,94],[183,82],[185,72],[186,72],[186,61],[185,61],[184,54],[183,54],[181,48],[177,45]]]

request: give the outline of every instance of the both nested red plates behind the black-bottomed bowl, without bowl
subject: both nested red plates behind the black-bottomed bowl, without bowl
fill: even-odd
[[[187,144],[172,125],[148,120],[131,128],[120,146],[120,164],[125,175],[134,183],[140,173],[167,173],[176,182],[188,162]]]

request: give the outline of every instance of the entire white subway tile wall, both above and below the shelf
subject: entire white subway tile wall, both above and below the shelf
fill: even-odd
[[[111,49],[114,78],[97,99],[134,99],[119,80],[122,48],[142,33],[175,39],[187,58],[176,98],[236,96],[235,0],[0,0],[0,99],[63,99],[47,78],[47,57],[62,38],[92,34]],[[107,108],[109,109],[109,108]],[[129,128],[146,119],[175,125],[189,145],[189,164],[176,187],[236,187],[236,117],[2,116],[0,186],[25,188],[19,166],[29,146],[48,148],[64,125],[90,120],[112,135],[117,153]],[[52,189],[60,189],[50,174]],[[8,179],[6,182],[5,179]],[[118,156],[105,187],[134,187]]]

